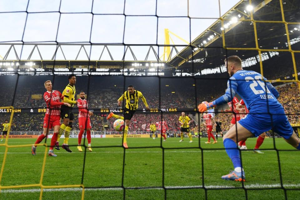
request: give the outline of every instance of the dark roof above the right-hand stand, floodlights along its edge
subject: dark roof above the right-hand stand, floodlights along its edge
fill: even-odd
[[[283,9],[289,31],[290,40],[300,40],[300,8],[298,0],[283,1]],[[254,26],[250,18],[249,1],[241,1],[225,13],[196,39],[191,46],[185,47],[168,64],[174,67],[191,67],[194,61],[194,68],[209,68],[223,65],[227,56],[240,56],[242,59],[251,58],[258,54],[257,51],[247,51],[247,48],[256,48]],[[258,47],[260,49],[288,49],[285,24],[282,21],[279,0],[252,0],[253,19],[256,21]],[[251,7],[250,7],[251,8]],[[247,20],[247,21],[240,21]],[[270,20],[270,21],[268,21]],[[263,22],[262,22],[263,21]],[[222,30],[225,38],[222,37]],[[225,50],[223,48],[241,48]]]

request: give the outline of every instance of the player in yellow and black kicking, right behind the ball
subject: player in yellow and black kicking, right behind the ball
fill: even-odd
[[[132,85],[129,85],[128,90],[125,91],[124,94],[118,99],[118,105],[119,106],[122,106],[122,101],[123,100],[125,101],[124,102],[125,106],[123,108],[124,117],[119,116],[119,115],[115,115],[115,114],[113,114],[113,112],[109,113],[109,115],[107,117],[107,119],[113,117],[113,118],[125,120],[125,128],[124,128],[124,133],[123,133],[123,135],[124,135],[123,136],[123,147],[124,148],[128,148],[127,140],[126,140],[127,134],[128,134],[128,127],[129,127],[129,124],[130,124],[130,120],[133,117],[133,114],[138,109],[138,100],[140,98],[142,99],[143,103],[145,104],[146,109],[150,110],[150,108],[147,104],[147,101],[146,101],[145,97],[143,96],[143,94],[140,91],[135,90]]]

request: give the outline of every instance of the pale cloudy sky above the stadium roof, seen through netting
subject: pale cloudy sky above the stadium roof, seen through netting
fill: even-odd
[[[93,2],[93,8],[92,8]],[[235,5],[238,0],[220,0],[221,15]],[[0,0],[0,12],[26,11],[27,0]],[[2,19],[2,30],[0,31],[0,42],[22,40],[23,30],[26,28],[23,36],[24,42],[93,42],[93,43],[122,43],[124,34],[124,43],[128,44],[164,44],[164,29],[176,33],[183,39],[190,41],[195,39],[214,21],[219,14],[218,0],[157,0],[157,15],[155,16],[126,16],[123,14],[124,0],[62,0],[60,12],[91,12],[70,14],[59,11],[59,0],[30,0],[28,12],[46,12],[46,13],[0,13]],[[155,15],[155,0],[126,0],[126,15]],[[54,12],[53,12],[54,11]],[[50,13],[51,12],[51,13]],[[96,14],[115,14],[115,15],[96,15]],[[174,16],[174,17],[163,17]],[[176,17],[186,16],[186,17]],[[190,19],[189,17],[206,17],[211,19]],[[59,27],[58,21],[60,17]],[[124,22],[126,25],[124,29]],[[93,27],[92,26],[93,19]],[[158,31],[158,34],[157,34]],[[91,33],[91,34],[90,34]],[[58,35],[57,35],[58,34]],[[157,37],[158,36],[158,37]],[[176,45],[185,43],[172,36]],[[0,55],[3,57],[9,45],[0,45]],[[75,59],[80,46],[63,47],[67,59]],[[91,60],[98,60],[102,51],[101,46],[92,47]],[[132,47],[138,60],[144,60],[148,47]],[[158,47],[155,47],[156,49]],[[21,59],[27,59],[32,47],[24,47]],[[182,49],[182,47],[178,47]],[[43,59],[51,59],[55,46],[40,47]],[[114,60],[121,60],[124,53],[124,47],[110,47]],[[17,53],[20,55],[21,46],[17,47]],[[87,49],[90,53],[90,49]],[[163,47],[159,49],[160,56],[163,54]],[[8,59],[15,59],[10,54]],[[39,59],[38,53],[34,52],[32,59]],[[63,59],[58,52],[56,59]],[[78,60],[87,59],[82,52]],[[103,60],[110,60],[108,53],[104,53]],[[125,59],[132,60],[130,54]],[[154,59],[150,55],[149,59]]]

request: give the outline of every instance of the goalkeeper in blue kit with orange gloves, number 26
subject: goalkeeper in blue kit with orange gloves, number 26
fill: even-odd
[[[242,60],[238,56],[230,56],[224,60],[230,76],[226,93],[213,102],[198,105],[200,113],[232,101],[238,94],[245,102],[250,113],[237,122],[223,137],[223,144],[234,170],[222,176],[225,180],[245,181],[240,152],[237,141],[250,137],[258,137],[271,130],[279,134],[292,147],[300,150],[300,140],[288,122],[282,105],[277,101],[278,91],[260,73],[242,69]]]

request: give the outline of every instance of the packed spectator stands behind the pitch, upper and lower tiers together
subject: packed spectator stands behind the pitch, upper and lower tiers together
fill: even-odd
[[[299,59],[296,59],[297,70],[299,70]],[[286,62],[283,63],[282,61]],[[274,67],[276,63],[276,67]],[[282,64],[280,64],[282,63]],[[244,68],[246,70],[254,70],[260,72],[260,65],[257,63],[251,67]],[[291,79],[287,78],[293,72],[293,66],[291,59],[284,59],[283,53],[281,56],[273,56],[271,59],[263,61],[263,72],[264,76],[269,79]],[[279,75],[280,74],[280,75]],[[226,77],[226,72],[219,77]],[[181,79],[161,79],[160,86],[158,85],[158,78],[153,77],[134,77],[126,78],[124,87],[124,78],[122,76],[116,77],[87,77],[78,76],[76,82],[77,94],[84,91],[88,94],[89,108],[101,109],[101,108],[119,108],[117,105],[118,98],[124,93],[124,89],[127,89],[129,84],[133,84],[135,89],[141,91],[150,108],[195,108],[197,104],[202,101],[212,101],[217,97],[224,94],[226,89],[226,78],[214,79],[216,74],[210,74],[203,76],[201,79],[196,80],[196,91],[194,86],[194,80],[191,78]],[[228,78],[228,77],[227,77]],[[54,81],[53,81],[54,79]],[[66,76],[1,76],[0,78],[0,91],[2,92],[2,98],[0,107],[14,106],[14,108],[45,108],[46,104],[42,99],[32,99],[32,94],[41,94],[46,91],[44,82],[46,80],[53,81],[53,89],[63,91],[65,86],[68,84],[68,78]],[[16,87],[17,83],[17,87]],[[88,84],[89,83],[89,84]],[[273,83],[277,85],[281,83]],[[160,87],[160,88],[159,88]],[[89,88],[89,89],[87,89]],[[16,91],[15,91],[16,89]],[[287,117],[290,123],[300,123],[300,94],[298,85],[286,84],[277,87],[280,97],[278,101],[282,103]],[[195,92],[197,97],[195,98]],[[197,103],[196,103],[197,102]],[[195,105],[196,104],[196,105]],[[139,101],[139,109],[145,108],[143,102]],[[19,114],[19,113],[18,113]],[[163,118],[169,124],[169,128],[172,131],[179,130],[178,118],[180,113],[164,114]],[[114,120],[109,120],[109,128],[103,127],[103,119],[106,114],[95,114],[91,119],[93,130],[95,131],[109,131],[112,129],[112,123]],[[0,122],[4,121],[5,118],[9,118],[7,114],[0,113]],[[230,120],[232,113],[220,113],[216,116],[222,122],[222,129],[228,130],[230,128]],[[150,122],[159,122],[161,120],[160,114],[135,114],[130,131],[141,131],[143,130],[142,124],[146,124],[147,129]],[[12,131],[38,131],[42,130],[42,114],[32,113],[17,113],[14,115],[12,123]],[[74,129],[78,129],[77,115],[75,115]],[[196,123],[191,125],[192,128],[197,128]],[[197,128],[198,129],[198,128]],[[203,125],[200,125],[200,130],[206,130]]]

